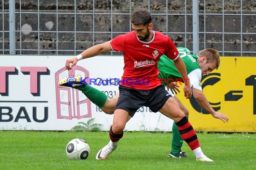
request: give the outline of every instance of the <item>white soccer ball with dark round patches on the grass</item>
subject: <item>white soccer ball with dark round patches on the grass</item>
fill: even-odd
[[[83,139],[73,139],[66,145],[66,156],[69,159],[86,159],[89,154],[89,144]]]

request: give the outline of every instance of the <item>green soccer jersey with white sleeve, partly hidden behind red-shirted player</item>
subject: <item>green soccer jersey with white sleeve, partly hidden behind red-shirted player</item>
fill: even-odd
[[[201,79],[202,70],[197,62],[198,56],[193,54],[189,49],[184,47],[177,47],[181,59],[185,63],[185,67],[190,79],[190,85],[196,89],[202,90]],[[163,85],[171,84],[173,81],[184,81],[182,80],[181,74],[175,67],[172,59],[169,59],[166,55],[162,55],[158,62],[158,69],[160,71],[159,78],[162,79]]]

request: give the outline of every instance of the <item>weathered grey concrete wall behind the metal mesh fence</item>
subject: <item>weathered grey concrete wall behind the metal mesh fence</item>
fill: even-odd
[[[94,17],[95,30],[98,33],[94,34],[94,43],[102,43],[110,40],[121,33],[115,32],[128,32],[130,30],[129,15],[113,15],[113,28],[111,28],[111,16],[106,15],[110,13],[111,4],[110,0],[95,0],[94,9],[98,14]],[[136,3],[135,3],[136,2]],[[192,0],[187,0],[187,14],[192,13]],[[0,4],[0,9],[8,11],[8,3]],[[19,4],[19,0],[16,0],[16,12],[19,12],[21,5],[22,12],[32,13],[16,13],[16,49],[38,49],[39,50],[53,50],[53,51],[40,51],[40,54],[74,54],[91,47],[93,45],[93,33],[76,33],[73,31],[93,31],[93,15],[91,14],[79,14],[79,13],[92,13],[93,12],[93,0],[76,0],[76,28],[75,28],[75,6],[73,0],[58,0],[58,6],[56,6],[55,0],[40,0],[40,14],[38,15],[37,0],[22,0],[22,4]],[[113,13],[129,13],[129,0],[113,0]],[[148,8],[148,0],[132,1],[132,9],[136,7]],[[225,0],[224,10],[225,13],[240,14],[240,0]],[[58,9],[58,10],[57,10]],[[192,49],[192,16],[186,17],[186,30],[185,30],[185,4],[182,0],[169,0],[168,10],[172,14],[168,16],[168,26],[166,18],[166,0],[154,0],[150,1],[150,9],[152,13],[158,13],[163,15],[154,15],[153,23],[154,30],[161,32],[181,32],[186,34],[186,47]],[[204,4],[203,0],[199,0],[199,10],[203,13]],[[222,14],[222,0],[206,1],[207,13]],[[33,13],[35,12],[35,13]],[[46,14],[56,13],[58,14]],[[255,0],[243,0],[243,14],[250,14],[256,12]],[[0,14],[0,23],[2,23],[2,15]],[[39,23],[38,23],[39,17]],[[21,21],[20,21],[21,19]],[[57,23],[58,20],[58,23]],[[199,31],[200,32],[220,32],[220,34],[207,33],[199,34],[199,49],[204,47],[213,47],[219,51],[241,51],[241,16],[240,15],[227,15],[224,18],[224,32],[225,33],[238,33],[238,34],[225,34],[223,41],[223,27],[222,27],[222,15],[206,15],[206,26],[204,29],[204,15],[199,15]],[[166,29],[167,27],[167,29]],[[2,30],[2,27],[0,28]],[[4,14],[4,30],[9,30],[9,16]],[[20,34],[19,30],[22,30]],[[37,31],[40,31],[38,34]],[[59,31],[58,33],[56,31]],[[113,31],[113,35],[110,31]],[[33,32],[35,31],[35,32]],[[53,31],[53,32],[43,32]],[[63,31],[63,32],[62,32]],[[68,31],[72,31],[67,33]],[[109,32],[109,33],[102,33]],[[256,16],[243,15],[243,33],[256,33]],[[21,36],[20,36],[21,35]],[[168,34],[170,38],[175,42],[177,46],[185,46],[185,34]],[[4,48],[9,48],[9,33],[4,33]],[[243,34],[243,51],[256,51],[256,35],[255,34]],[[22,43],[20,43],[22,42]],[[3,38],[0,39],[0,47],[2,46]],[[39,44],[38,44],[39,43]],[[20,44],[22,46],[20,47]],[[76,49],[74,49],[76,45]],[[58,53],[56,52],[58,49]],[[68,50],[68,51],[64,51]],[[16,51],[17,54],[38,54],[38,51]],[[225,52],[225,56],[239,55],[235,52]],[[248,53],[247,56],[254,54]]]

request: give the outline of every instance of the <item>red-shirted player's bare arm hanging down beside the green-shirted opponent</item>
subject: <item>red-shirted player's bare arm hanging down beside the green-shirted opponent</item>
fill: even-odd
[[[185,82],[185,86],[183,88],[185,98],[191,98],[192,90],[190,87],[190,81],[183,60],[181,59],[181,57],[178,57],[176,60],[173,60],[173,63],[180,72],[183,81]]]

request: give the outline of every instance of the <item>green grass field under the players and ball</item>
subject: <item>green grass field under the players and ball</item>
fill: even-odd
[[[96,160],[108,141],[108,132],[0,131],[2,170],[255,170],[256,134],[197,133],[203,152],[215,162],[169,158],[172,133],[124,132],[119,146],[106,160]],[[74,138],[88,142],[86,160],[69,160],[66,144]]]

